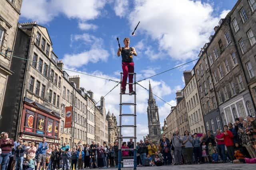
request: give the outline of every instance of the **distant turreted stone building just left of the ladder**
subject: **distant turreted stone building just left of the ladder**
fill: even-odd
[[[106,119],[108,120],[108,143],[114,143],[116,139],[118,139],[118,126],[116,121],[116,116],[114,113],[110,113],[106,115]]]

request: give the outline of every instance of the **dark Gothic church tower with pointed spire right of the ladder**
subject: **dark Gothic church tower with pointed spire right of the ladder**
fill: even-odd
[[[149,82],[149,98],[148,98],[148,135],[147,138],[152,140],[153,143],[158,143],[161,138],[161,128],[158,113],[158,106],[153,96],[151,84]]]

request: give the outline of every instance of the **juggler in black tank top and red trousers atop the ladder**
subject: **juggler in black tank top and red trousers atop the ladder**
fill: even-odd
[[[133,74],[134,73],[134,62],[132,59],[132,55],[137,56],[134,47],[129,47],[130,39],[128,37],[124,38],[124,47],[119,47],[117,51],[117,56],[122,55],[122,69],[123,69],[123,78],[122,78],[122,94],[125,94],[126,90],[126,82],[127,76],[129,76],[129,83],[133,83]],[[133,91],[133,84],[129,84],[129,95],[133,95],[135,92]]]

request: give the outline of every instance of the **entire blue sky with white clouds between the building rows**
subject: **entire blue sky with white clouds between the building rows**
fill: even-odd
[[[130,37],[136,48],[134,57],[137,80],[196,59],[208,37],[232,9],[236,0],[23,0],[19,22],[37,21],[47,27],[54,52],[65,68],[119,80],[121,59],[118,44]],[[131,33],[140,21],[135,36]],[[175,92],[184,87],[183,70],[187,64],[150,79],[153,92],[172,106]],[[70,75],[77,73],[69,72]],[[98,101],[115,83],[80,74],[81,86],[94,92]],[[148,80],[140,82],[148,88]],[[106,109],[119,114],[119,89],[106,96]],[[137,86],[138,139],[148,133],[146,116],[148,92]],[[132,98],[126,96],[126,102]],[[170,106],[156,99],[160,123],[170,113]],[[131,108],[124,109],[130,112]],[[124,119],[125,123],[130,119]],[[130,135],[128,129],[124,134]]]

